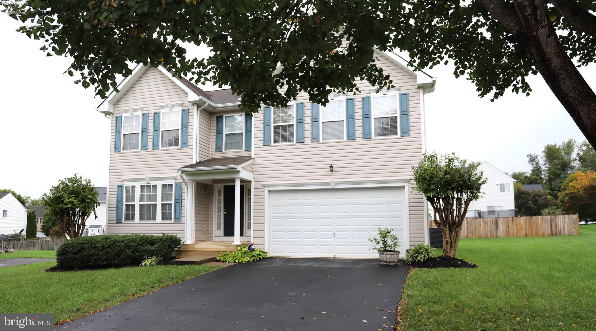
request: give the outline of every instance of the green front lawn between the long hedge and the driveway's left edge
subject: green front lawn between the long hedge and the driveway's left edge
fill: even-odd
[[[54,313],[63,323],[206,273],[206,265],[156,265],[46,273],[56,262],[0,268],[2,313]]]

